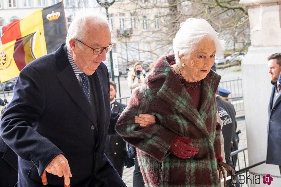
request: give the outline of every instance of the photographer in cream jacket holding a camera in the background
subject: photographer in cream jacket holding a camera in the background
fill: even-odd
[[[143,69],[142,63],[136,62],[132,71],[128,73],[128,85],[132,89],[132,92],[136,87],[144,83],[145,77],[145,70]]]

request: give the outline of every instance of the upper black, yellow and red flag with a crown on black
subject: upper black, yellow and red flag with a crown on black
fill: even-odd
[[[55,51],[65,42],[67,33],[62,2],[39,9],[24,19],[4,26],[1,41],[5,44],[37,31],[42,36],[44,54]]]

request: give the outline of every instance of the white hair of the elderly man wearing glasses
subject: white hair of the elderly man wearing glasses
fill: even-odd
[[[72,38],[79,39],[80,41],[87,40],[86,28],[89,24],[95,25],[97,29],[107,28],[110,32],[112,31],[112,26],[107,17],[98,7],[79,8],[79,10],[75,12],[75,15],[71,17],[71,20],[72,22],[69,25],[65,41],[69,48],[69,40]],[[78,42],[77,44],[80,49],[83,49],[82,43]]]

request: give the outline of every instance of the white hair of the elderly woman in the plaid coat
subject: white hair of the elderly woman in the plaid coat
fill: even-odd
[[[179,56],[188,54],[188,57],[190,57],[198,42],[205,37],[214,40],[216,55],[223,55],[224,42],[218,39],[218,33],[210,23],[201,18],[188,18],[182,22],[173,39],[173,50],[177,65],[181,65]]]

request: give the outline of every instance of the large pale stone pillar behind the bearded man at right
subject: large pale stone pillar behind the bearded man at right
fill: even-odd
[[[248,8],[251,30],[252,45],[242,61],[242,83],[249,165],[253,165],[266,159],[268,103],[272,90],[267,57],[281,52],[281,0],[241,0],[240,4]],[[251,169],[250,174],[261,176],[261,186],[267,185],[262,183],[262,176],[266,174],[273,177],[270,187],[281,185],[276,165],[262,164]]]

